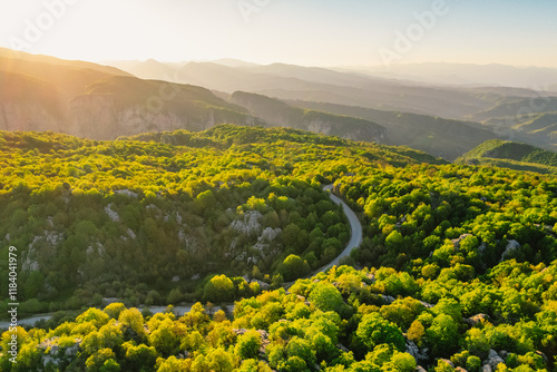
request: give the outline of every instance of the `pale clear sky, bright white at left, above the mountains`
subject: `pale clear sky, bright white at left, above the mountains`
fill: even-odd
[[[401,63],[557,67],[556,17],[555,0],[4,0],[0,46],[90,61],[375,66],[392,51]],[[409,30],[411,48],[397,49]]]

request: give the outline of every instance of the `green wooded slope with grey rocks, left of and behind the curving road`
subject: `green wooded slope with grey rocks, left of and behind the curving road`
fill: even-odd
[[[233,125],[114,141],[3,131],[0,150],[0,237],[2,249],[20,249],[23,313],[115,296],[164,304],[172,290],[170,302],[202,298],[199,282],[212,274],[292,281],[350,237],[321,183],[358,164],[442,163],[408,148]],[[255,290],[244,282],[235,291]]]

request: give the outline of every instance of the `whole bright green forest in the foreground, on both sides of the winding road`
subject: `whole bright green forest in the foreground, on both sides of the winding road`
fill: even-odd
[[[99,307],[18,329],[2,371],[556,370],[554,176],[291,129],[1,138],[21,307]],[[350,236],[330,183],[364,242],[284,290]]]

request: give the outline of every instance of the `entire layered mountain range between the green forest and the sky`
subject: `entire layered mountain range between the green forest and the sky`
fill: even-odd
[[[557,98],[526,88],[436,86],[234,59],[111,63],[0,49],[0,129],[114,139],[223,123],[282,126],[448,160],[489,139],[557,148]]]

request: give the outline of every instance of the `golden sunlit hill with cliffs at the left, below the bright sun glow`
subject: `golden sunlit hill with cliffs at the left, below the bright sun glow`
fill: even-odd
[[[0,130],[114,139],[149,130],[263,125],[209,90],[100,65],[0,50]]]

